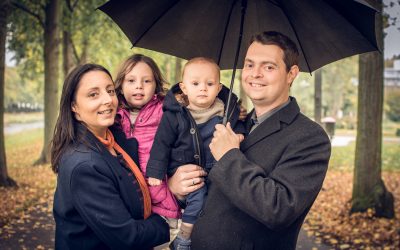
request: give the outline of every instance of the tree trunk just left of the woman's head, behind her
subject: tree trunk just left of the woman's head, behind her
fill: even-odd
[[[60,1],[50,0],[45,7],[44,28],[44,144],[36,164],[49,162],[49,146],[58,112],[59,17]]]

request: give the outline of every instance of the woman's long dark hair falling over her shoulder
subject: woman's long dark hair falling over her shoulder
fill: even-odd
[[[101,65],[84,64],[74,68],[66,77],[61,93],[60,112],[57,123],[54,128],[53,140],[51,143],[51,168],[55,173],[58,172],[58,165],[61,156],[66,150],[76,142],[82,142],[90,145],[85,141],[85,133],[87,129],[76,120],[72,111],[72,105],[76,101],[76,92],[83,75],[91,71],[102,71],[110,76],[110,72]]]

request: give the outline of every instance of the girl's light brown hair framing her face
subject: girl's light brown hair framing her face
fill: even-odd
[[[128,103],[125,100],[124,95],[121,93],[122,91],[122,83],[125,80],[125,76],[133,69],[133,67],[136,66],[139,62],[144,62],[147,64],[151,71],[153,72],[154,80],[156,82],[156,89],[155,89],[155,94],[157,95],[163,95],[165,94],[165,85],[167,85],[167,82],[165,81],[163,75],[161,74],[160,69],[158,68],[156,62],[154,62],[153,59],[151,59],[148,56],[142,55],[142,54],[133,54],[130,57],[128,57],[124,63],[121,65],[117,76],[115,78],[115,91],[118,96],[118,101],[119,104],[123,108],[130,109]]]

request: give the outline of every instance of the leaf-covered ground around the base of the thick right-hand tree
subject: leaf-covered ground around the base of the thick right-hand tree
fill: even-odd
[[[375,218],[372,209],[350,214],[353,173],[328,171],[303,228],[336,249],[399,249],[400,173],[385,172],[383,180],[394,196],[396,218]]]

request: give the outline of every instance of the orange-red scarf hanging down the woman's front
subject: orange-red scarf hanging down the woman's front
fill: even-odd
[[[128,164],[129,168],[132,170],[133,174],[136,177],[136,180],[139,183],[140,190],[143,194],[143,214],[144,218],[148,218],[151,214],[151,199],[150,199],[150,192],[147,186],[146,180],[144,179],[142,173],[140,172],[139,167],[135,164],[132,158],[117,144],[114,140],[114,136],[110,130],[107,129],[107,139],[103,139],[101,137],[96,136],[99,141],[103,143],[103,145],[108,149],[114,148],[115,151],[122,154],[125,162]]]

